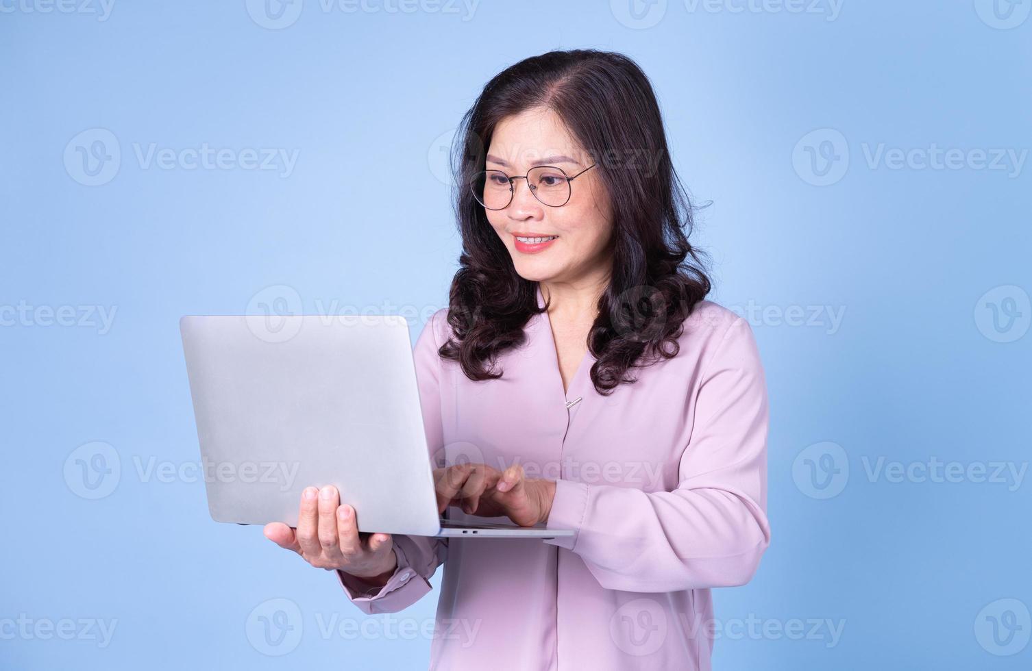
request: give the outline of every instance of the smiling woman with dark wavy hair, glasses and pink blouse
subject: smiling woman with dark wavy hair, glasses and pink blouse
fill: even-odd
[[[708,669],[710,588],[770,542],[768,402],[748,324],[705,300],[651,86],[618,54],[544,54],[456,137],[460,269],[414,355],[440,507],[576,534],[364,538],[310,488],[266,536],[367,613],[443,564],[433,668]]]

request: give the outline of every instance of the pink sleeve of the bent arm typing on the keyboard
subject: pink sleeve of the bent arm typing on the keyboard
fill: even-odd
[[[608,590],[673,592],[744,584],[770,544],[766,380],[748,323],[736,318],[699,382],[671,492],[556,480],[544,542],[578,555]]]

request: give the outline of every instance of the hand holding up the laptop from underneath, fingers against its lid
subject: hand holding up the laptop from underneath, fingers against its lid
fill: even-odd
[[[368,534],[363,540],[355,523],[354,508],[341,505],[341,497],[332,485],[305,489],[301,493],[297,529],[273,522],[265,525],[265,537],[297,552],[316,568],[341,570],[373,584],[386,583],[397,567],[390,534]]]

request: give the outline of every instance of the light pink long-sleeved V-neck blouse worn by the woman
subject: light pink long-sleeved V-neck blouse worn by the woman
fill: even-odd
[[[748,323],[703,301],[676,357],[631,369],[638,381],[606,397],[590,351],[563,393],[547,312],[499,358],[502,378],[470,380],[437,354],[446,313],[414,354],[431,455],[519,461],[554,479],[547,527],[576,535],[394,536],[398,567],[379,591],[336,573],[348,598],[366,613],[401,610],[444,565],[433,669],[709,669],[710,588],[747,582],[770,543],[768,401]]]

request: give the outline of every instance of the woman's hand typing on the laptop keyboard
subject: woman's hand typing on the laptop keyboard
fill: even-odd
[[[460,505],[466,514],[506,515],[520,527],[548,522],[555,497],[555,482],[524,477],[519,464],[505,471],[487,464],[460,464],[434,469],[433,479],[438,512]]]

